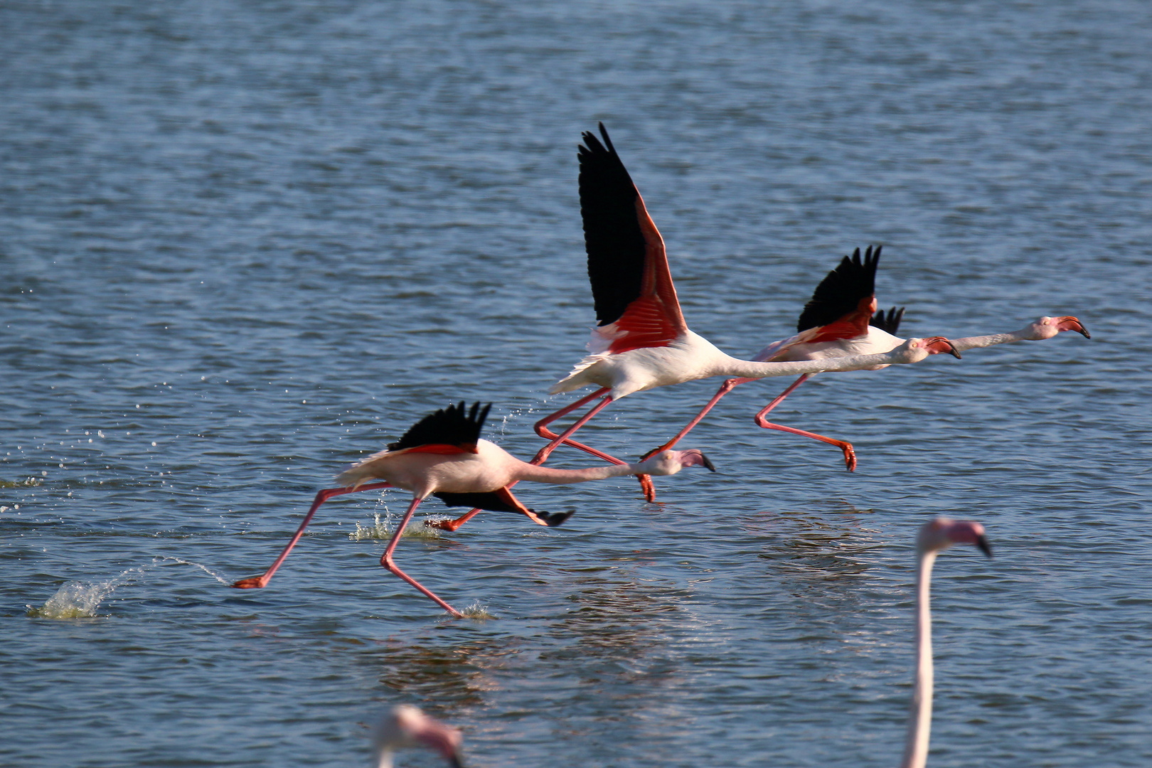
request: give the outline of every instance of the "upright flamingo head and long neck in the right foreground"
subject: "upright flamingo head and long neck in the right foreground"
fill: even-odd
[[[932,729],[932,611],[929,607],[932,565],[937,554],[954,543],[979,547],[988,557],[992,549],[984,526],[973,520],[938,517],[925,523],[916,537],[916,683],[908,713],[908,733],[900,768],[924,768]]]

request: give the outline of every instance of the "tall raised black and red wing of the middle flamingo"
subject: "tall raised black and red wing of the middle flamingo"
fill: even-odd
[[[604,350],[666,347],[688,329],[668,271],[664,239],[621,162],[608,131],[579,147],[579,205],[588,276]],[[594,350],[596,351],[596,350]]]

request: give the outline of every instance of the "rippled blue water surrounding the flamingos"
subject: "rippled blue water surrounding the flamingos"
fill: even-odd
[[[910,541],[948,514],[996,558],[937,567],[931,765],[1150,765],[1150,15],[5,3],[0,763],[367,765],[364,724],[408,701],[480,767],[895,765]],[[592,322],[598,120],[733,353],[869,243],[909,334],[1069,313],[1093,339],[805,383],[778,420],[850,439],[855,474],[756,428],[787,382],[752,383],[685,443],[720,473],[658,479],[659,505],[532,486],[577,515],[402,541],[490,618],[379,568],[401,495],[333,500],[268,588],[226,588],[447,402],[538,447]],[[717,383],[583,434],[637,456]]]

